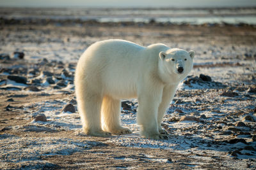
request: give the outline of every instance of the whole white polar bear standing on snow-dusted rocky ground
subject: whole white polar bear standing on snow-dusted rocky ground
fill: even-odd
[[[145,47],[121,39],[89,46],[77,62],[74,81],[83,132],[102,137],[131,133],[120,124],[120,99],[138,97],[141,136],[166,139],[161,120],[194,56],[163,44]]]

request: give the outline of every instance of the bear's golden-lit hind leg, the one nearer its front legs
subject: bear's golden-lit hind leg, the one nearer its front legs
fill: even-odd
[[[121,126],[120,100],[105,96],[102,102],[101,114],[104,131],[117,135],[131,133],[130,129]]]

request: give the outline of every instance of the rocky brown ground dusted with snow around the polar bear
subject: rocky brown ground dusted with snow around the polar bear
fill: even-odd
[[[1,169],[256,168],[255,27],[1,20],[0,30]],[[164,117],[168,140],[140,138],[136,99],[122,102],[132,134],[81,134],[76,61],[110,38],[195,50]]]

